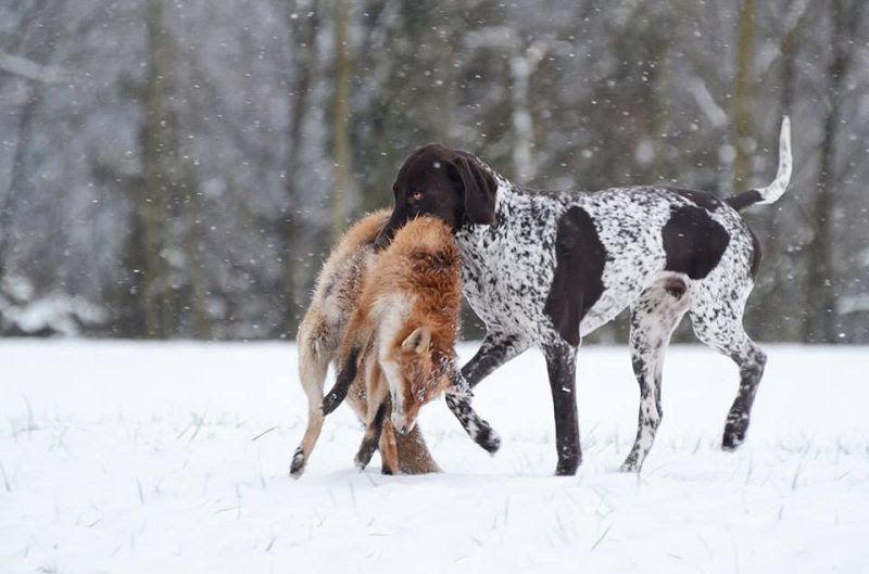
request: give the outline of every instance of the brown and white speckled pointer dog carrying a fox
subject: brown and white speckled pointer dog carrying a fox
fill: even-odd
[[[637,438],[621,469],[639,472],[660,423],[664,353],[685,312],[697,337],[739,366],[722,447],[745,439],[766,355],[742,326],[760,247],[739,212],[778,200],[791,164],[786,117],[773,182],[723,201],[657,187],[531,192],[468,153],[428,144],[402,165],[395,206],[375,245],[421,214],[453,227],[463,293],[487,328],[461,375],[473,387],[530,346],[542,349],[555,411],[556,474],[576,473],[582,460],[574,396],[580,341],[630,307],[641,399]],[[474,436],[469,399],[452,396],[448,405]]]

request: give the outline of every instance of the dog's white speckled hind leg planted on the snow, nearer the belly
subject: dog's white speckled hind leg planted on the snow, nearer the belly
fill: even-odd
[[[630,349],[633,373],[640,383],[637,438],[621,464],[639,472],[655,442],[664,411],[660,406],[664,355],[676,326],[688,310],[687,278],[665,277],[646,289],[631,306]]]

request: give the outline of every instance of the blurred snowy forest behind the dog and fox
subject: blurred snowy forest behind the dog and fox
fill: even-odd
[[[772,179],[789,113],[748,332],[867,343],[864,4],[2,0],[0,334],[292,339],[417,145],[726,196]]]

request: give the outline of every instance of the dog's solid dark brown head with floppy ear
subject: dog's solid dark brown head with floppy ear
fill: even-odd
[[[381,248],[410,219],[434,216],[458,229],[465,222],[495,222],[492,174],[473,155],[437,143],[423,145],[404,161],[392,184],[395,207],[375,245]]]

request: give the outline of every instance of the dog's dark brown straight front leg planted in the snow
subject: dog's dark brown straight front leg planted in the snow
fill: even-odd
[[[555,445],[558,451],[555,474],[569,476],[576,474],[582,463],[576,397],[577,349],[568,343],[558,342],[544,346],[543,354],[555,411]]]

